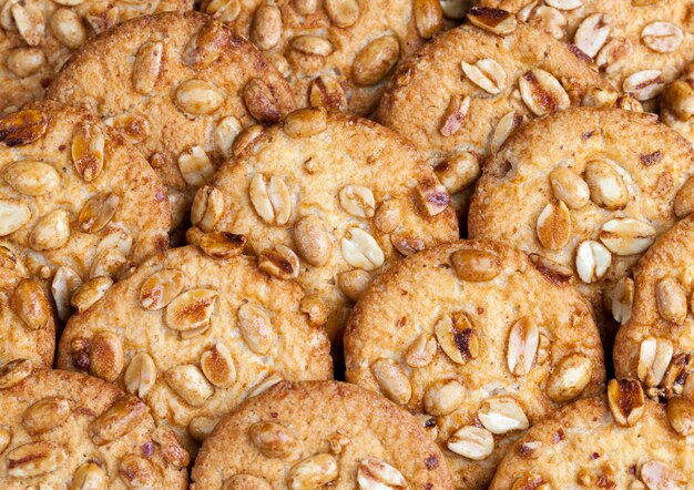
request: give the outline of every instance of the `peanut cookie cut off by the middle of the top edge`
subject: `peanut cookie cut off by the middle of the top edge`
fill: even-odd
[[[263,50],[300,106],[358,115],[375,109],[394,68],[443,28],[438,0],[205,0],[202,10]]]

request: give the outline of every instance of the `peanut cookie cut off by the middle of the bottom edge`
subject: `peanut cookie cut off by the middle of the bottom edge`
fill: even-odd
[[[452,489],[437,446],[388,400],[337,381],[280,382],[226,416],[192,489]]]

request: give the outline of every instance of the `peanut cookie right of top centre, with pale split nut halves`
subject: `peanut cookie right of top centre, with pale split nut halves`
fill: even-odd
[[[525,120],[616,99],[582,53],[510,14],[506,23],[439,35],[400,67],[376,112],[436,169],[462,216],[483,159]]]

